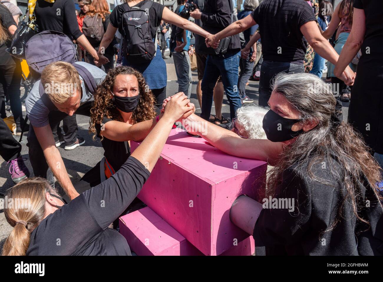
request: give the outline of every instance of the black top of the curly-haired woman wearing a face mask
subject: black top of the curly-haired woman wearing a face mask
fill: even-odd
[[[106,117],[103,118],[102,123],[106,124],[113,119],[108,119]],[[101,125],[95,125],[97,131],[97,137],[101,137]],[[119,168],[126,162],[126,159],[130,156],[130,148],[128,141],[114,141],[103,137],[101,141],[102,147],[104,148],[104,156],[113,167],[115,171],[119,170]]]

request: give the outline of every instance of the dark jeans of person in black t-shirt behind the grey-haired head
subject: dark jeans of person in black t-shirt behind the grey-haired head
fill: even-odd
[[[278,73],[303,73],[303,64],[293,64],[290,62],[266,61],[262,62],[261,74],[259,78],[259,106],[267,107],[268,99],[270,99],[273,78]]]

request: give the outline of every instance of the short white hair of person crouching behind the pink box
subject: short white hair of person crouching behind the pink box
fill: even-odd
[[[267,139],[262,128],[267,109],[257,105],[249,105],[237,109],[236,126],[242,127],[251,139]]]

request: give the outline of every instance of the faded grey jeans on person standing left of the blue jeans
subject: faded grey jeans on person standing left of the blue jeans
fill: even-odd
[[[172,52],[175,73],[177,74],[178,92],[183,92],[188,98],[191,94],[191,69],[188,51]]]

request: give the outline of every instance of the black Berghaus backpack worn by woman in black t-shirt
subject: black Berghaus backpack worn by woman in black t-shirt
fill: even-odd
[[[156,46],[150,29],[149,9],[153,1],[144,1],[141,7],[129,7],[122,4],[122,30],[124,39],[124,56],[131,63],[151,61],[155,56]]]

